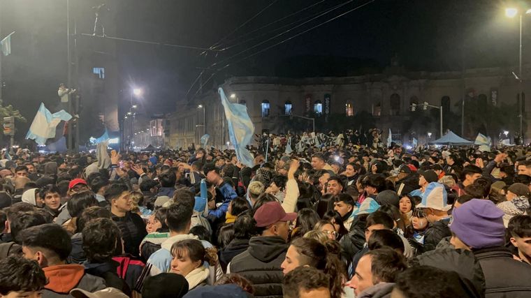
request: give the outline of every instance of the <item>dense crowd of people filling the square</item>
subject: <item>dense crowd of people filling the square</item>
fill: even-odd
[[[19,150],[0,297],[531,297],[529,147],[336,140]]]

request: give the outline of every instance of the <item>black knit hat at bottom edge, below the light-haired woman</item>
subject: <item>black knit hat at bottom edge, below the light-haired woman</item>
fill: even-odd
[[[168,286],[171,285],[171,286]],[[161,273],[148,277],[142,288],[143,298],[177,298],[188,292],[188,281],[184,276],[173,273]]]

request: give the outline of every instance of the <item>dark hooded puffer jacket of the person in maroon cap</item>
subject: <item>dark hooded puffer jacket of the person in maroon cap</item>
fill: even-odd
[[[254,284],[255,297],[282,297],[282,262],[288,245],[281,237],[252,237],[247,251],[236,255],[229,269]]]

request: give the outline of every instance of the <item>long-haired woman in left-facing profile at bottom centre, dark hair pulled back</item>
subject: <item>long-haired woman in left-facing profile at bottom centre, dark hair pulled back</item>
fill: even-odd
[[[285,275],[301,266],[310,266],[323,271],[330,277],[330,297],[341,297],[342,284],[347,280],[347,272],[337,255],[330,253],[326,245],[311,238],[293,240],[280,267]]]

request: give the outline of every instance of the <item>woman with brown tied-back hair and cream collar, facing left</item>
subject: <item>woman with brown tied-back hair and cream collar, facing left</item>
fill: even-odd
[[[187,279],[188,290],[207,283],[210,271],[205,261],[211,266],[217,265],[216,248],[205,248],[196,239],[175,242],[171,246],[171,256],[171,271]]]

